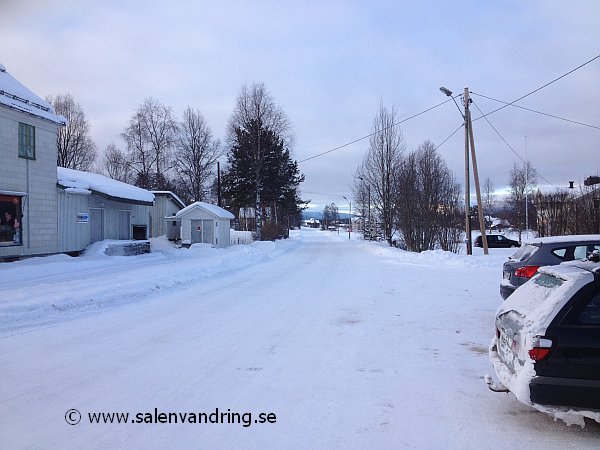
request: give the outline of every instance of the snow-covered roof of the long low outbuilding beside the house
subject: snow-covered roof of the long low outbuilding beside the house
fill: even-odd
[[[95,193],[125,203],[152,205],[154,194],[146,189],[97,173],[57,167],[58,184],[71,193]]]

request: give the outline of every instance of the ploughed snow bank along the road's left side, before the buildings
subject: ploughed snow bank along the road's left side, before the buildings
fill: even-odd
[[[140,301],[160,291],[198,283],[253,266],[288,251],[294,242],[255,242],[215,249],[207,244],[175,248],[166,238],[150,239],[152,253],[108,256],[105,240],[90,245],[80,257],[55,255],[2,266],[0,330],[53,322],[69,311],[94,311],[112,304]],[[86,274],[104,274],[94,284]],[[30,287],[27,286],[30,284]]]

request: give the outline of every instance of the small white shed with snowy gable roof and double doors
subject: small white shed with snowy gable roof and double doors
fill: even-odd
[[[233,214],[217,205],[192,203],[175,214],[181,220],[181,243],[229,246],[230,221]]]

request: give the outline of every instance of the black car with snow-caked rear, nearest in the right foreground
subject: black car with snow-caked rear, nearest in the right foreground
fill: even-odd
[[[600,422],[600,263],[539,269],[496,313],[490,389],[583,425]]]

